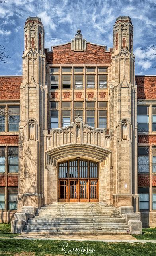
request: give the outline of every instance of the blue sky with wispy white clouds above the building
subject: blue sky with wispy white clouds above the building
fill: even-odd
[[[69,42],[78,28],[88,42],[113,47],[113,24],[130,16],[134,25],[135,74],[156,74],[156,55],[140,48],[156,45],[156,0],[8,0],[0,4],[0,44],[10,59],[0,75],[22,74],[23,26],[29,16],[42,19],[45,47]]]

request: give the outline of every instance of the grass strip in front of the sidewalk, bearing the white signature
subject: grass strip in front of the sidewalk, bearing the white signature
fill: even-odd
[[[60,246],[59,246],[60,245]],[[64,246],[64,247],[63,247]],[[64,248],[64,250],[62,250]],[[68,250],[77,250],[68,251]],[[76,249],[77,248],[77,249]],[[87,253],[88,248],[88,253]],[[93,250],[92,250],[93,248]],[[78,251],[79,249],[79,251]],[[92,250],[92,251],[89,251]],[[96,250],[96,251],[94,251]],[[89,253],[93,252],[93,253]],[[0,239],[0,255],[52,256],[52,255],[95,255],[95,256],[155,256],[156,244],[104,243],[91,241],[23,240]]]

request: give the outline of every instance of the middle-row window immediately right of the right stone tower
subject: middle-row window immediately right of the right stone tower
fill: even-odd
[[[138,172],[149,172],[149,147],[138,147]]]

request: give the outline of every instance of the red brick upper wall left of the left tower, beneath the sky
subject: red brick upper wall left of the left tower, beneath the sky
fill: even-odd
[[[0,100],[20,99],[21,76],[0,77]]]

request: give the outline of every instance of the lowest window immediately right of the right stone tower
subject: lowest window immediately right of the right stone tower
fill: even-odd
[[[139,187],[140,210],[149,210],[149,187]]]

